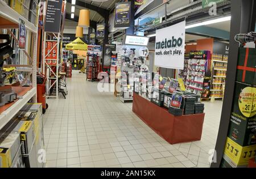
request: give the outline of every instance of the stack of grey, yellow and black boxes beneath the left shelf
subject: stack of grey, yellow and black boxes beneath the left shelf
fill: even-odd
[[[43,168],[44,161],[38,160],[38,151],[44,150],[42,104],[25,105],[10,123],[7,131],[0,131],[0,166]]]

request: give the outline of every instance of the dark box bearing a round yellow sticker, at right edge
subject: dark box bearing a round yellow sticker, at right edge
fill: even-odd
[[[256,144],[256,88],[236,82],[228,137],[240,146]]]

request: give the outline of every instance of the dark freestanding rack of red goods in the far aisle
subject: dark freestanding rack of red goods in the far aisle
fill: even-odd
[[[86,80],[92,82],[98,80],[98,73],[100,73],[100,62],[98,58],[98,54],[87,53]]]

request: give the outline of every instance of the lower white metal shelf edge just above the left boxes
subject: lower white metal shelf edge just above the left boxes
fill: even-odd
[[[36,95],[36,87],[32,88],[22,99],[16,101],[10,108],[0,114],[0,129],[2,129],[15,115],[19,112],[27,102]]]

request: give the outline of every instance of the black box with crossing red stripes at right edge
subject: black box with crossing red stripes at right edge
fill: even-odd
[[[237,65],[237,82],[256,84],[256,49],[240,48]]]

